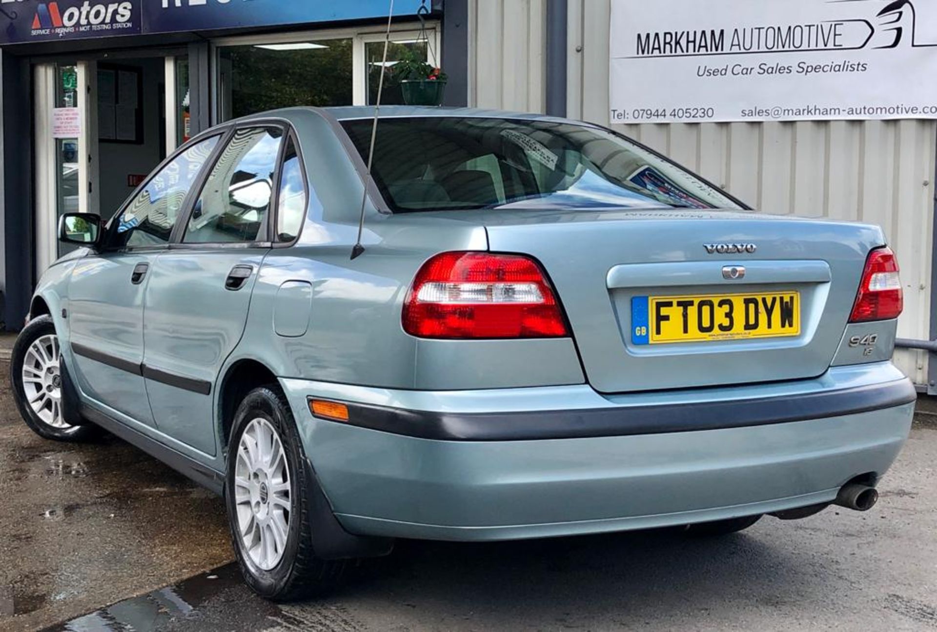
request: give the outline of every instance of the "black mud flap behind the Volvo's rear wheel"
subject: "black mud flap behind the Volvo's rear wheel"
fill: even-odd
[[[306,489],[312,509],[312,548],[323,560],[347,560],[360,557],[381,557],[394,550],[391,537],[355,536],[345,531],[329,499],[319,484],[312,463],[306,459]]]

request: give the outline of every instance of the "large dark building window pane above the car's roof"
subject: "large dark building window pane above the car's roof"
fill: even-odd
[[[219,49],[224,121],[292,106],[351,105],[351,39]]]

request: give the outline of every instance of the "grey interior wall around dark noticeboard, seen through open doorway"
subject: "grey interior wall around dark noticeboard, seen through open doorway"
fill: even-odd
[[[119,66],[136,67],[143,78],[143,144],[123,144],[100,141],[98,143],[100,212],[109,218],[120,207],[133,187],[127,186],[130,174],[147,174],[162,160],[161,125],[163,98],[160,85],[164,83],[165,68],[162,58],[121,60]]]

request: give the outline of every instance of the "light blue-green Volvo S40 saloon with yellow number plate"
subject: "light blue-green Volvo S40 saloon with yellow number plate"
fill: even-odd
[[[63,216],[85,247],[17,342],[26,423],[223,493],[276,599],[396,537],[874,504],[915,401],[880,228],[752,213],[613,131],[509,112],[385,108],[368,176],[373,125],[237,120],[106,225]]]

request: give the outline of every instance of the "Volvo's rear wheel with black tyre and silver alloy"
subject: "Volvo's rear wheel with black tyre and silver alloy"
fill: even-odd
[[[313,550],[308,463],[280,389],[251,390],[231,427],[225,504],[247,585],[274,601],[327,592],[345,567]]]

